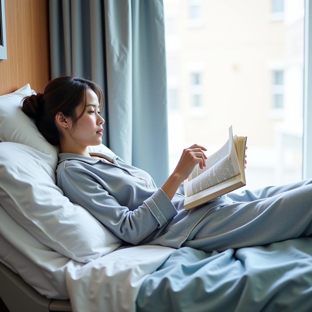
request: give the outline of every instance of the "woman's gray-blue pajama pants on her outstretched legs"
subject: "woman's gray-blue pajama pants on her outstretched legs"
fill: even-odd
[[[232,203],[209,211],[181,247],[223,251],[312,236],[312,179],[226,196]]]

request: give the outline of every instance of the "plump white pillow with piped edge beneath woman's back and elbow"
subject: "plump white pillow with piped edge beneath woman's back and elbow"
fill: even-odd
[[[84,263],[121,246],[117,236],[63,195],[42,152],[2,142],[0,173],[3,208],[42,244]]]

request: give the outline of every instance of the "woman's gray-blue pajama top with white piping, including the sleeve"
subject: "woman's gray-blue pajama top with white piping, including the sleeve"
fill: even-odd
[[[124,245],[161,245],[180,248],[192,229],[215,207],[232,202],[226,195],[185,211],[184,195],[172,200],[146,171],[119,156],[113,163],[72,153],[58,154],[56,184],[72,203],[89,211]]]

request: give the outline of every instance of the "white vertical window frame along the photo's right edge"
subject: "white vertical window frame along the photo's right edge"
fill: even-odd
[[[303,179],[312,178],[312,0],[305,0]]]

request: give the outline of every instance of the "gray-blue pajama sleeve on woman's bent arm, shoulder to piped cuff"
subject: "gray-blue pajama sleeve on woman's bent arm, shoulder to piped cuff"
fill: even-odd
[[[57,186],[71,202],[84,207],[116,236],[134,245],[178,213],[161,188],[139,207],[129,210],[109,194],[94,173],[82,167],[65,167]]]

